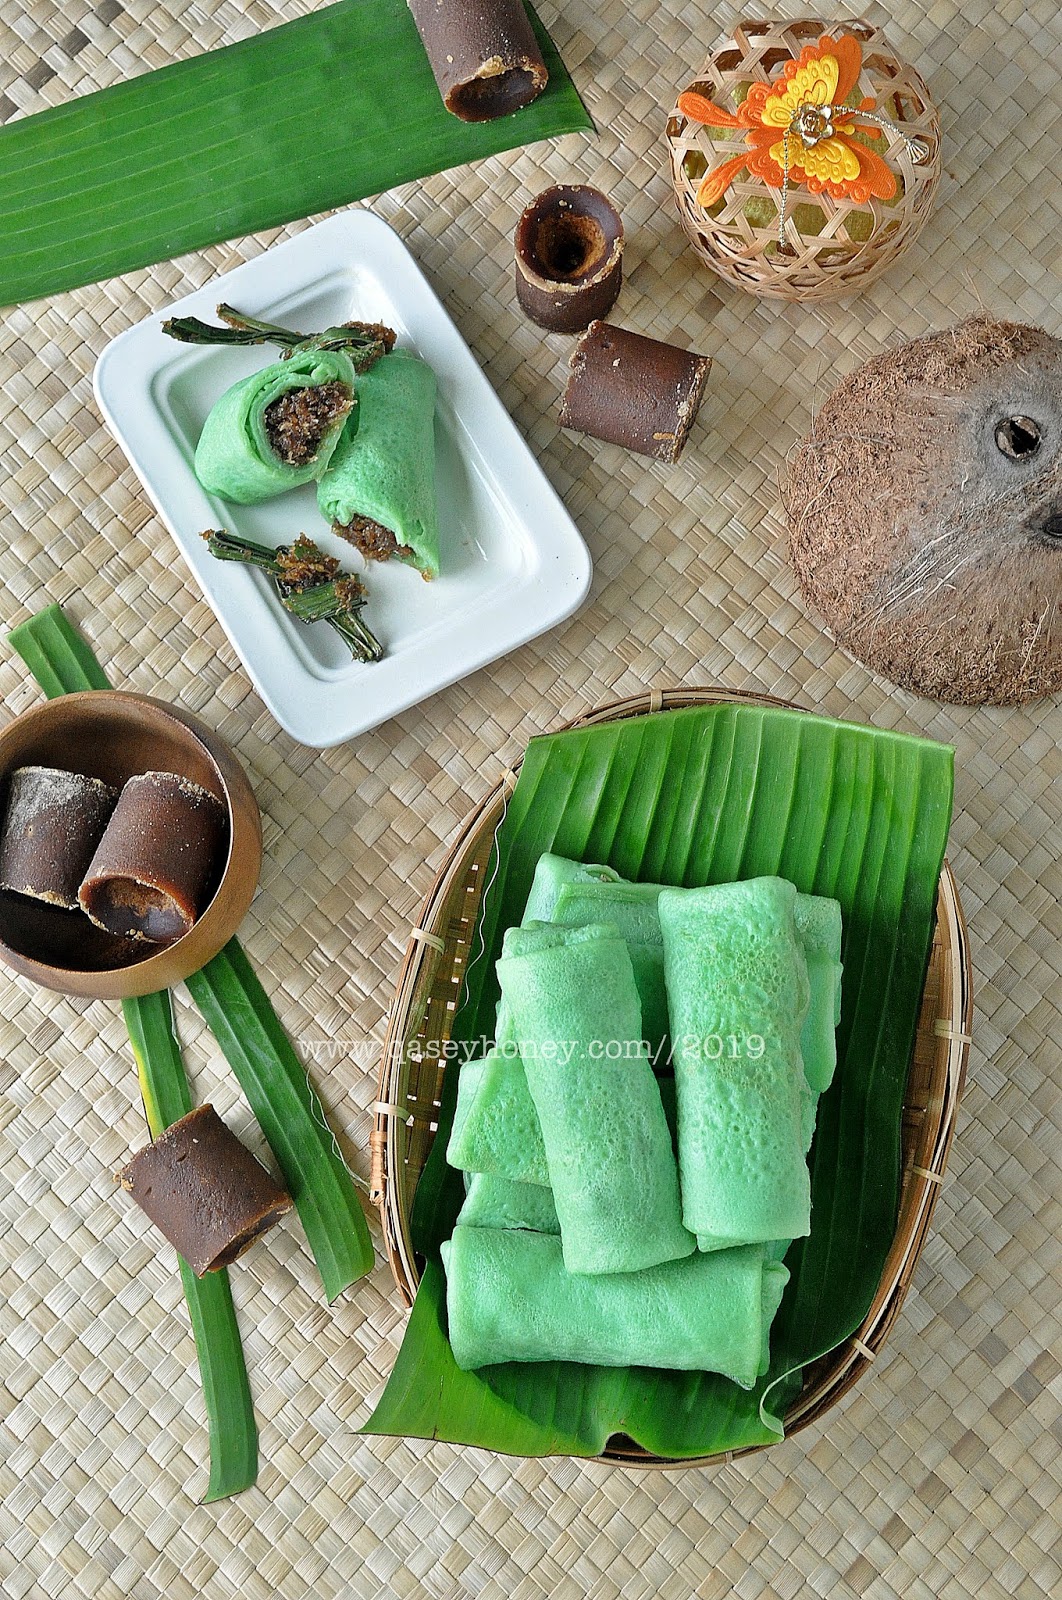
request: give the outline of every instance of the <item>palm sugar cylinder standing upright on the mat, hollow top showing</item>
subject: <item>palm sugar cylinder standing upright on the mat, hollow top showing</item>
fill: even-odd
[[[517,299],[539,328],[582,333],[616,304],[624,224],[598,189],[545,189],[517,222],[515,253]]]

